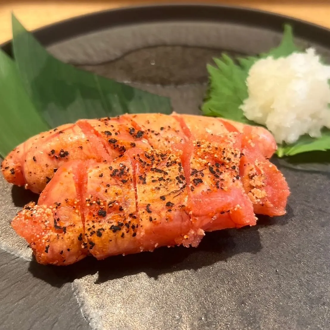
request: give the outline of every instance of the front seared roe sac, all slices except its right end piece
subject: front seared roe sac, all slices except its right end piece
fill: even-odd
[[[12,226],[42,264],[67,265],[160,246],[197,246],[205,231],[254,225],[239,177],[242,135],[132,148],[113,161],[63,165]],[[276,189],[276,186],[275,186]]]

